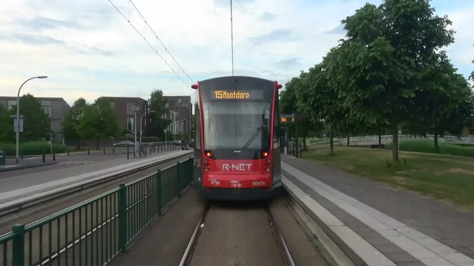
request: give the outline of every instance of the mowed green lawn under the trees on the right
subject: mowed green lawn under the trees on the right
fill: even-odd
[[[303,158],[346,172],[417,191],[467,209],[474,209],[474,158],[400,151],[400,165],[390,166],[392,151],[312,145]],[[406,165],[404,165],[404,158]]]

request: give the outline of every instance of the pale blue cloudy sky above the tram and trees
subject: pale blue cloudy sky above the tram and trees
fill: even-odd
[[[320,62],[344,36],[340,21],[367,1],[233,0],[235,75],[288,81]],[[23,93],[70,104],[81,96],[148,98],[153,89],[187,95],[193,81],[231,75],[228,0],[133,0],[136,9],[128,0],[111,2],[4,0],[0,95],[16,95],[38,75],[49,78],[28,82]],[[474,1],[432,5],[453,21],[456,43],[447,50],[467,77],[474,70]]]

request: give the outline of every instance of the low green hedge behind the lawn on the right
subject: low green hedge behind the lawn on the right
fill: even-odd
[[[460,146],[441,141],[438,143],[441,154],[474,157],[474,147]],[[392,149],[392,143],[385,144],[385,148]],[[400,141],[400,150],[435,153],[435,141],[430,139],[404,139]]]

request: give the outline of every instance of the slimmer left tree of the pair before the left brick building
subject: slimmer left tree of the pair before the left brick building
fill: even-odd
[[[75,138],[77,139],[77,148],[80,148],[81,145],[81,137],[78,132],[79,128],[79,123],[84,116],[85,111],[87,109],[87,101],[80,97],[77,100],[74,101],[72,104],[71,109],[69,110],[69,113],[67,116],[64,118],[63,122],[63,134],[66,138]]]

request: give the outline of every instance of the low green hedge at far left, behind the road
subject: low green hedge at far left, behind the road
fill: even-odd
[[[51,144],[48,141],[30,141],[20,143],[20,155],[40,155],[44,153],[51,153]],[[7,156],[16,155],[15,143],[0,143],[0,150],[5,151]],[[53,143],[53,152],[63,153],[67,151],[67,147],[63,144]]]

